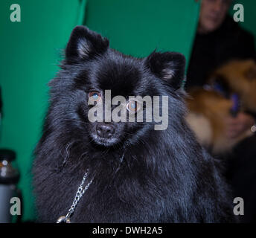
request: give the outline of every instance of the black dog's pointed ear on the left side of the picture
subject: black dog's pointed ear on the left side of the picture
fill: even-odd
[[[65,48],[65,60],[69,63],[88,60],[103,54],[109,48],[109,40],[84,26],[72,30]]]

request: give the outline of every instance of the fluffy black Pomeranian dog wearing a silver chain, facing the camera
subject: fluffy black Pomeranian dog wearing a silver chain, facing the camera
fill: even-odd
[[[129,57],[98,33],[74,28],[49,83],[50,106],[35,149],[40,222],[233,221],[228,187],[185,123],[184,73],[182,54]],[[140,108],[143,118],[145,103],[131,103],[130,96],[167,96],[159,114],[167,111],[167,128],[156,129],[155,120],[91,121],[90,109],[104,103],[108,90],[126,100],[110,111],[122,105],[128,116]]]

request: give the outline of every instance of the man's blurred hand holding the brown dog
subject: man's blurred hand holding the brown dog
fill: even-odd
[[[225,120],[225,135],[227,138],[236,138],[255,123],[255,119],[245,112],[239,112],[236,118],[228,117]]]

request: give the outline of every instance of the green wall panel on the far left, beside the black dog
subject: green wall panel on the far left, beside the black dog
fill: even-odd
[[[21,22],[10,22],[10,5],[21,7]],[[0,86],[4,102],[0,147],[14,149],[21,171],[23,220],[34,218],[32,152],[47,106],[47,83],[57,72],[61,49],[74,25],[81,24],[85,1],[0,2]],[[80,7],[80,6],[83,7]],[[54,158],[53,158],[54,159]]]

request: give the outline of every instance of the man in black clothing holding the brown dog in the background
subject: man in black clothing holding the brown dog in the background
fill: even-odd
[[[199,25],[188,65],[185,89],[204,86],[209,75],[229,60],[256,59],[254,38],[227,15],[231,0],[202,0]],[[233,138],[250,129],[255,117],[246,112],[225,120],[226,136]],[[246,138],[226,156],[226,177],[234,197],[244,200],[241,222],[256,222],[256,136]]]

